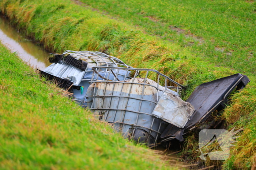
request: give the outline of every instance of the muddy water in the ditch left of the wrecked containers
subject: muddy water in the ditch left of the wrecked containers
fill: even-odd
[[[34,68],[44,70],[50,65],[47,60],[49,52],[22,36],[2,15],[0,15],[0,40]]]

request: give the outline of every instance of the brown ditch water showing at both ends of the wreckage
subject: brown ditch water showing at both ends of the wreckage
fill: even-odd
[[[49,52],[37,45],[37,42],[26,39],[3,15],[0,15],[0,41],[34,68],[44,70],[51,64],[48,61]],[[163,155],[162,158],[170,162],[171,165],[188,169],[198,168],[197,165],[199,163],[191,164],[192,162],[190,162],[188,164],[187,162],[189,161],[177,155],[180,153],[181,148],[182,146],[179,144],[179,146],[173,147],[173,149],[169,149],[167,145],[166,147],[159,145],[152,149],[155,150],[155,153]]]

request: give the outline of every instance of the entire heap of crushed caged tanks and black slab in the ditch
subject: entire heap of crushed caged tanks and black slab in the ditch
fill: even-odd
[[[183,101],[179,95],[186,88],[168,76],[132,68],[101,52],[65,51],[50,60],[53,64],[42,75],[71,90],[76,102],[93,110],[99,120],[112,123],[124,137],[154,145],[183,141],[213,111],[225,108],[233,90],[250,81],[234,74],[203,83]]]

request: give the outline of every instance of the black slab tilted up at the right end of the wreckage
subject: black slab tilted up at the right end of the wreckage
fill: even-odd
[[[226,107],[227,97],[233,90],[242,90],[249,82],[246,75],[234,74],[199,85],[186,100],[195,108],[190,120],[184,128],[169,124],[161,135],[161,141],[174,138],[183,141],[183,135],[194,130],[196,124],[206,121],[215,110],[221,111]]]

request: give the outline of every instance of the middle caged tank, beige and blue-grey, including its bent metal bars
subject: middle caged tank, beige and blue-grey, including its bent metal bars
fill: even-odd
[[[112,69],[129,71],[134,75],[128,80],[107,78],[91,81],[87,90],[87,105],[98,115],[99,120],[112,123],[124,137],[140,143],[155,144],[169,123],[156,118],[152,112],[163,91],[178,96],[182,86],[151,69],[95,67],[95,75],[99,77],[99,73],[105,69],[110,72]],[[158,82],[148,77],[156,77]],[[164,87],[160,85],[161,82]],[[167,82],[177,86],[167,86]]]

